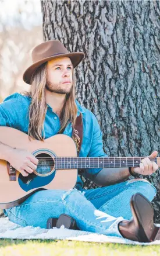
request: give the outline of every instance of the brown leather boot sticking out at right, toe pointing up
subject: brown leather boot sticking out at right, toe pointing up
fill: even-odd
[[[144,243],[160,240],[160,228],[154,225],[154,210],[150,201],[141,193],[136,193],[131,197],[130,207],[133,218],[119,223],[120,234]]]

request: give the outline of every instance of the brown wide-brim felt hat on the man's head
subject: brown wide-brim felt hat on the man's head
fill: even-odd
[[[42,64],[54,58],[69,57],[72,61],[73,68],[77,67],[83,60],[85,54],[83,52],[69,53],[59,40],[49,40],[35,46],[31,52],[33,64],[23,74],[23,80],[30,84],[31,77],[34,72]]]

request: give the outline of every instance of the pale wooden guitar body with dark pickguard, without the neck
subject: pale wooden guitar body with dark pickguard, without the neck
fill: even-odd
[[[29,150],[34,157],[42,159],[37,169],[27,177],[15,170],[15,180],[9,178],[9,168],[12,167],[5,160],[0,160],[0,209],[19,205],[35,191],[67,190],[76,185],[77,169],[56,170],[54,164],[54,157],[77,157],[76,144],[69,136],[57,134],[45,141],[30,141],[26,133],[2,126],[0,141],[13,148]]]

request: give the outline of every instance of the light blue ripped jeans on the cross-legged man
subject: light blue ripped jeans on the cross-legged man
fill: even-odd
[[[76,220],[80,230],[122,237],[118,223],[131,218],[130,198],[137,192],[151,201],[156,189],[145,179],[132,179],[82,191],[44,190],[3,212],[12,222],[41,228],[47,227],[49,218],[66,213]]]

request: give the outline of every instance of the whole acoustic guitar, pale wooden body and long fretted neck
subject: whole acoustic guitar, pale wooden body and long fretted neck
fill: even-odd
[[[43,189],[74,188],[77,169],[138,167],[144,157],[77,157],[74,140],[57,134],[44,141],[29,140],[29,136],[12,127],[0,127],[0,141],[13,148],[29,150],[38,159],[37,169],[27,177],[0,160],[0,209],[24,202],[31,194]],[[150,157],[160,167],[160,157]]]

